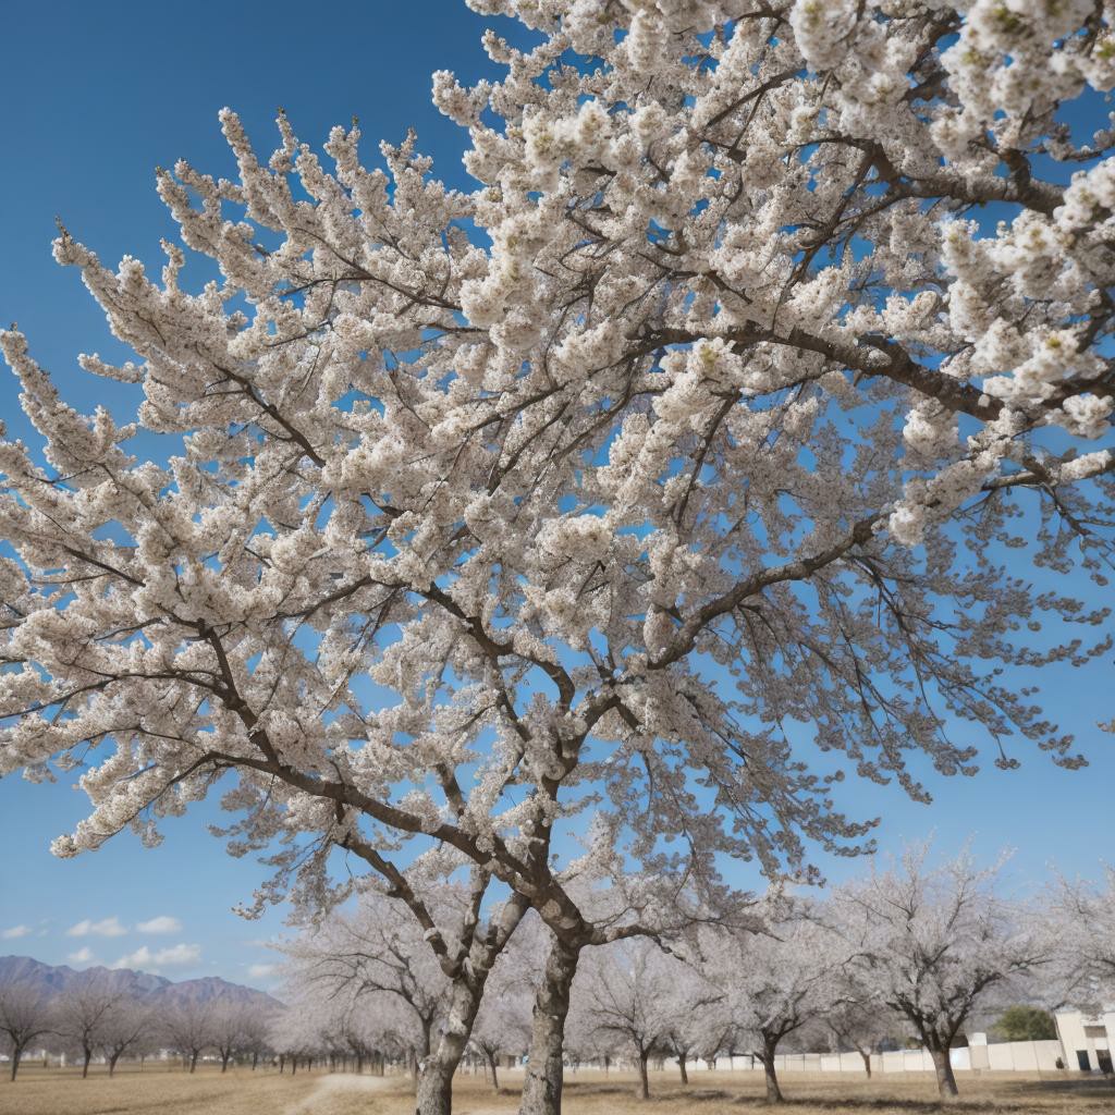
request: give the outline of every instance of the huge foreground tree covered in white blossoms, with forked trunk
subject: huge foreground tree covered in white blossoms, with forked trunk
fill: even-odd
[[[922,797],[909,753],[1077,762],[999,670],[1085,661],[1103,634],[1025,624],[1104,615],[1004,562],[1109,556],[1115,138],[1064,108],[1115,40],[1099,0],[471,4],[532,32],[485,36],[501,81],[435,75],[475,188],[414,136],[367,168],[355,126],[327,166],[284,116],[261,162],[225,112],[236,181],[158,172],[161,274],[59,236],[135,351],[81,367],[144,398],[78,414],[0,339],[45,447],[0,444],[0,773],[89,764],[61,855],[225,779],[232,850],[284,842],[260,903],[361,863],[453,987],[428,1113],[536,909],[540,1112],[581,950],[658,920],[594,921],[571,872],[706,901],[721,853],[866,835],[794,718]],[[462,867],[450,938],[416,878]]]

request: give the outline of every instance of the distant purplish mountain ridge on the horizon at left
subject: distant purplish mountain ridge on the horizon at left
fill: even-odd
[[[107,986],[147,1002],[241,1002],[264,1008],[279,1007],[278,999],[241,983],[230,983],[216,976],[185,979],[175,983],[162,976],[137,972],[130,968],[86,968],[76,971],[68,964],[45,964],[31,957],[0,957],[0,983],[28,982],[45,995],[59,995],[88,983]]]

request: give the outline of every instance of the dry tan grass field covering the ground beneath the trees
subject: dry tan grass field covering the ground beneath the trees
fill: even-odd
[[[568,1115],[744,1115],[765,1108],[758,1073],[694,1074],[681,1088],[672,1074],[656,1074],[655,1095],[634,1097],[634,1078],[612,1073],[570,1074]],[[1040,1078],[1020,1073],[960,1079],[961,1098],[942,1107],[929,1076],[834,1079],[786,1074],[786,1115],[923,1115],[940,1111],[990,1115],[1112,1115],[1115,1086],[1067,1074]],[[510,1076],[500,1095],[482,1077],[465,1075],[455,1090],[456,1115],[504,1115],[516,1108],[518,1080]],[[96,1073],[30,1068],[16,1084],[0,1083],[0,1115],[411,1115],[404,1077],[356,1077],[203,1068],[193,1077],[148,1067],[115,1079]]]

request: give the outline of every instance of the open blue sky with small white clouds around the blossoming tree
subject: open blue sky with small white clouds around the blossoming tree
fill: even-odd
[[[430,105],[429,75],[449,68],[465,81],[492,76],[478,45],[484,21],[457,0],[353,4],[311,19],[306,12],[289,0],[6,9],[0,321],[19,323],[68,401],[108,403],[124,415],[130,397],[127,387],[77,368],[79,351],[120,353],[78,274],[50,258],[56,214],[107,262],[130,253],[159,265],[159,237],[174,226],[155,194],[154,167],[186,157],[231,174],[216,123],[222,106],[241,114],[264,152],[280,105],[316,145],[330,126],[358,116],[368,162],[378,139],[397,142],[414,125],[438,176],[466,184],[463,136]],[[0,416],[12,433],[26,430],[7,370],[0,370]],[[1050,863],[1095,872],[1115,835],[1115,737],[1095,728],[1112,716],[1109,665],[1059,669],[1046,681],[1048,709],[1077,735],[1088,768],[1060,770],[1015,748],[1024,759],[1018,772],[988,763],[975,779],[927,776],[937,798],[931,807],[894,787],[854,780],[842,788],[842,807],[854,816],[884,815],[879,836],[889,851],[930,832],[941,852],[968,840],[989,859],[1016,847],[1010,875],[1020,888],[1039,888]],[[229,857],[207,834],[206,824],[219,820],[215,806],[169,821],[155,851],[124,836],[76,861],[51,859],[49,841],[84,808],[84,796],[62,783],[0,782],[0,953],[77,967],[130,958],[172,978],[221,975],[266,985],[273,957],[263,942],[282,932],[282,914],[245,922],[231,913],[263,869]],[[822,865],[833,879],[863,866]]]

